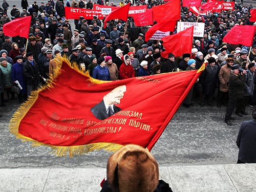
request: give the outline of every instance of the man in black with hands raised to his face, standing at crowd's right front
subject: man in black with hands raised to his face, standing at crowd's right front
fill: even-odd
[[[244,96],[244,75],[246,71],[239,71],[239,65],[233,65],[231,67],[231,73],[228,81],[228,105],[227,105],[227,111],[225,115],[225,123],[228,125],[232,125],[230,120],[233,120],[234,118],[231,117],[234,108],[237,109],[240,108]],[[236,112],[238,116],[242,116],[240,113]]]

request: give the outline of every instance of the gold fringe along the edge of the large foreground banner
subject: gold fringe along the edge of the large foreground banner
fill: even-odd
[[[41,146],[41,145],[50,146],[52,148],[52,152],[50,152],[50,154],[54,154],[59,157],[66,156],[67,154],[69,154],[70,157],[73,157],[74,155],[82,155],[85,153],[89,153],[89,152],[92,152],[95,150],[101,150],[101,149],[104,149],[106,151],[112,151],[112,152],[119,150],[119,148],[121,148],[123,145],[116,144],[116,143],[105,143],[105,142],[91,143],[86,145],[76,145],[76,146],[50,145],[50,144],[45,144],[45,143],[36,141],[34,139],[31,139],[29,137],[26,137],[18,133],[20,121],[22,121],[22,119],[25,117],[25,115],[28,113],[30,108],[33,106],[33,104],[37,100],[39,92],[44,91],[46,89],[50,90],[54,88],[54,85],[57,82],[56,77],[61,74],[61,65],[63,62],[66,62],[71,68],[76,70],[78,73],[84,75],[85,77],[88,77],[88,80],[92,83],[99,84],[99,83],[110,82],[110,81],[102,81],[102,80],[94,79],[90,77],[88,71],[86,72],[81,71],[76,63],[72,63],[73,64],[73,67],[72,67],[71,62],[67,57],[58,57],[57,67],[53,71],[55,74],[54,77],[50,77],[47,80],[46,85],[41,86],[36,91],[33,91],[31,93],[31,96],[29,96],[28,100],[24,102],[22,105],[20,105],[17,111],[13,114],[9,123],[10,133],[16,135],[16,138],[22,139],[22,141],[31,141],[32,146]]]

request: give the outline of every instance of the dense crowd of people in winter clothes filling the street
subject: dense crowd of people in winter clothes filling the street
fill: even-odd
[[[94,3],[116,6],[113,2],[100,0],[73,0],[72,3],[67,0],[66,6],[92,9]],[[141,0],[120,1],[117,6],[127,3],[147,5],[148,8],[164,4],[163,1]],[[31,91],[54,76],[58,56],[67,57],[72,66],[89,71],[90,76],[100,80],[198,70],[207,62],[204,72],[183,102],[186,108],[195,101],[201,106],[213,106],[216,99],[218,108],[226,107],[225,122],[232,125],[234,117],[231,115],[235,109],[235,113],[242,116],[248,115],[248,104],[256,106],[256,37],[251,49],[222,41],[234,25],[253,25],[249,22],[251,5],[235,3],[234,10],[199,17],[182,7],[181,21],[204,23],[204,36],[194,37],[191,54],[176,57],[169,53],[165,59],[161,57],[161,52],[165,51],[161,40],[144,40],[150,26],[136,26],[129,17],[128,21],[110,20],[103,27],[97,15],[91,20],[81,15],[74,19],[75,27],[71,27],[70,20],[65,18],[64,4],[62,0],[51,0],[46,5],[43,2],[29,5],[27,0],[22,0],[22,11],[13,5],[7,12],[9,4],[3,2],[0,9],[1,106],[6,106],[11,99],[18,98],[19,103],[26,101]],[[4,24],[28,15],[32,16],[28,39],[4,34]],[[16,89],[17,84],[22,90]]]

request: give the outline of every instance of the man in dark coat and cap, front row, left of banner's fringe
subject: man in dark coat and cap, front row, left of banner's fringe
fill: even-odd
[[[26,54],[27,61],[24,62],[23,74],[27,82],[27,93],[31,95],[31,91],[36,90],[40,85],[39,67],[33,59],[33,53]]]

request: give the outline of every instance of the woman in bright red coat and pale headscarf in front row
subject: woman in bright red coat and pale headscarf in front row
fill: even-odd
[[[122,61],[123,63],[119,68],[119,79],[135,77],[135,71],[133,69],[129,55],[122,56]]]

